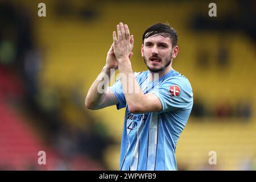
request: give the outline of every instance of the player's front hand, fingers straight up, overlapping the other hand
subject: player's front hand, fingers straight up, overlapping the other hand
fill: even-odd
[[[133,49],[134,39],[133,35],[130,36],[127,24],[123,25],[122,22],[117,24],[117,34],[115,31],[113,32],[113,40],[114,54],[117,61],[129,59],[133,55],[131,50]]]

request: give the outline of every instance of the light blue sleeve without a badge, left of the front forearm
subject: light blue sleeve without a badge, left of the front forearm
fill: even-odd
[[[120,78],[118,78],[117,81],[115,81],[114,85],[109,86],[109,89],[112,90],[115,94],[115,97],[117,97],[117,109],[122,109],[123,107],[126,107],[125,95],[123,94],[122,83]]]

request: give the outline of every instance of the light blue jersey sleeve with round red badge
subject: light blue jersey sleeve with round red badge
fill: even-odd
[[[193,105],[192,88],[183,76],[174,77],[159,83],[150,93],[154,93],[162,104],[163,113],[176,109],[191,109]]]

